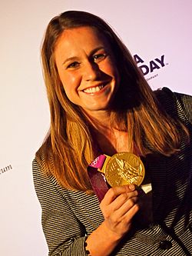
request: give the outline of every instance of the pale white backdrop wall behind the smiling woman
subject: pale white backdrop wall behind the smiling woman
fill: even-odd
[[[49,126],[39,52],[49,20],[71,9],[108,21],[142,60],[138,65],[144,71],[151,65],[145,77],[152,88],[192,94],[192,0],[1,0],[1,256],[48,254],[31,177],[31,161]]]

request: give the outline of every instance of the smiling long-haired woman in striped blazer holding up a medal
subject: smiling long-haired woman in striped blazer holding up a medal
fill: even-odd
[[[33,175],[49,255],[190,255],[192,98],[151,91],[118,36],[87,12],[53,18],[41,56],[51,128]],[[88,165],[118,152],[141,158],[144,181],[99,203]]]

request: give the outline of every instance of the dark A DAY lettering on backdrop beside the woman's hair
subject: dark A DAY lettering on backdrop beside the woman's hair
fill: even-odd
[[[158,71],[168,65],[168,63],[165,62],[164,55],[161,55],[158,58],[154,58],[150,62],[144,62],[144,59],[139,55],[134,55],[134,60],[137,63],[137,67],[141,69],[144,76],[150,75],[150,77],[146,78],[147,81],[158,76],[158,73],[155,73],[155,71]]]

